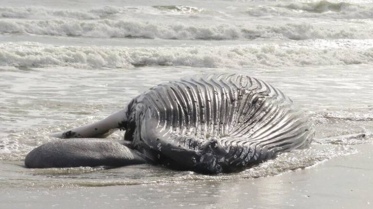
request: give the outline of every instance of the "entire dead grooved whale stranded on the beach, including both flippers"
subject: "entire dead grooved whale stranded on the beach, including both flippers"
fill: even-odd
[[[123,141],[86,139],[115,129],[125,131]],[[229,173],[305,148],[313,135],[310,120],[280,90],[243,75],[212,74],[160,84],[102,121],[54,134],[66,140],[35,148],[25,165],[154,163]]]

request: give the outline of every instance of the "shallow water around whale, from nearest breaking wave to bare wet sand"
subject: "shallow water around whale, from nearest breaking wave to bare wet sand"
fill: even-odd
[[[351,68],[355,68],[351,72]],[[0,187],[75,187],[153,184],[189,180],[220,181],[266,177],[356,153],[356,144],[372,143],[373,76],[362,74],[367,65],[220,69],[250,72],[282,89],[312,118],[316,137],[366,132],[365,138],[318,140],[311,148],[296,150],[238,174],[204,176],[167,168],[138,165],[104,168],[24,169],[22,160],[35,146],[55,140],[49,136],[92,123],[119,110],[132,97],[153,85],[188,74],[216,72],[211,68],[135,67],[132,69],[3,68],[3,127],[1,159],[4,183]],[[309,70],[305,78],[304,71]],[[327,70],[333,78],[324,75]],[[63,73],[62,73],[63,72]],[[31,74],[30,76],[24,76]],[[348,78],[345,75],[348,74]],[[152,75],[152,78],[149,78]],[[61,77],[63,79],[61,79]],[[125,82],[123,82],[125,81]],[[302,94],[300,94],[302,93]],[[120,96],[119,96],[120,95]],[[109,137],[118,139],[123,133]],[[16,161],[12,164],[13,161]],[[20,162],[19,162],[20,161]],[[10,164],[9,164],[10,163]],[[5,175],[6,174],[6,175]],[[15,177],[16,176],[16,177]],[[58,181],[56,181],[58,178]],[[15,180],[16,179],[16,180]],[[30,184],[30,182],[32,182]]]

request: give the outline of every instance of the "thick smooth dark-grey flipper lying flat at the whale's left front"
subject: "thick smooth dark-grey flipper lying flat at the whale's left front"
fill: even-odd
[[[143,164],[147,160],[125,143],[113,140],[57,140],[32,150],[25,159],[28,168],[111,166]]]

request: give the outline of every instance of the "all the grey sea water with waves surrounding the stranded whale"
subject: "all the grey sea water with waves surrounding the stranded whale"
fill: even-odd
[[[0,190],[242,181],[354,158],[373,144],[372,69],[370,0],[0,0]],[[98,121],[160,82],[226,72],[281,89],[316,138],[366,137],[315,140],[218,176],[23,167],[52,132]]]

